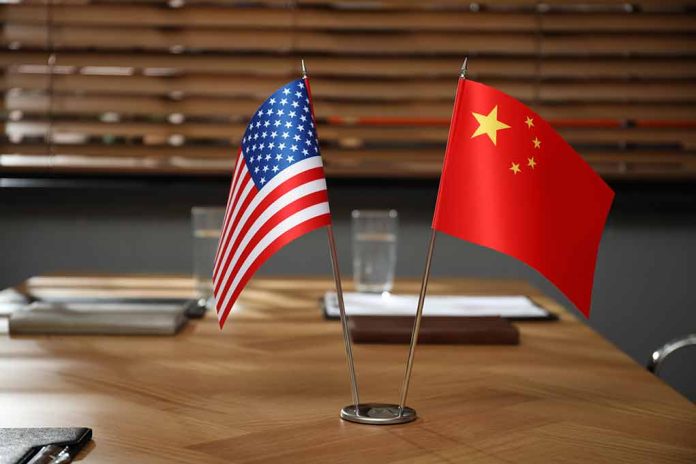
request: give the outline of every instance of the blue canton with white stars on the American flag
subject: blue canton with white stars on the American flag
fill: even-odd
[[[242,154],[258,189],[293,164],[319,156],[319,142],[304,80],[276,90],[256,110],[242,139]]]

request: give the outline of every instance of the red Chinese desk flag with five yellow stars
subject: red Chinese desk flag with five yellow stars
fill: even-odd
[[[589,316],[613,198],[539,115],[459,80],[433,229],[527,263]]]

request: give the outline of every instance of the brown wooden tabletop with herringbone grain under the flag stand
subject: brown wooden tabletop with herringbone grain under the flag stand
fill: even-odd
[[[70,286],[43,279],[36,293]],[[181,277],[90,282],[191,293]],[[431,290],[525,293],[561,320],[518,324],[519,346],[421,346],[416,422],[342,422],[340,325],[317,304],[329,289],[257,278],[222,332],[208,314],[176,337],[0,337],[0,424],[92,427],[90,463],[696,462],[694,405],[519,281],[434,279]],[[362,399],[398,401],[407,347],[354,351]]]

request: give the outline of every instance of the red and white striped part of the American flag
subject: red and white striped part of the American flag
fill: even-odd
[[[291,165],[258,189],[240,152],[213,270],[220,327],[247,281],[273,253],[330,223],[320,156]]]

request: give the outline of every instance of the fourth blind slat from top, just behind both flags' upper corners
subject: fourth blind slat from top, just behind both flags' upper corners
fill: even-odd
[[[41,90],[47,87],[45,75],[6,76],[6,88]],[[517,98],[536,101],[674,101],[696,100],[696,82],[534,82],[489,79],[503,92]],[[313,79],[312,89],[317,101],[324,99],[361,101],[453,101],[454,79],[407,80],[395,85],[392,81]],[[80,92],[109,95],[159,95],[182,93],[190,96],[257,97],[270,95],[279,85],[275,78],[245,77],[146,77],[59,75],[53,78],[57,92]]]

